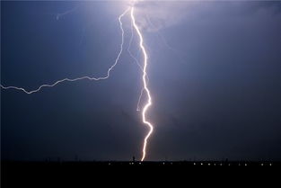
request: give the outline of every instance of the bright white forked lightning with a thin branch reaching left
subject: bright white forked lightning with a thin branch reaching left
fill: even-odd
[[[136,2],[134,1],[134,4],[135,3]],[[118,54],[117,58],[115,59],[114,64],[108,69],[106,76],[101,76],[101,77],[82,76],[82,77],[77,77],[77,78],[64,78],[64,79],[61,79],[61,80],[57,80],[57,82],[55,82],[53,84],[40,85],[37,89],[31,90],[31,91],[28,91],[27,89],[24,89],[23,87],[17,87],[17,86],[4,86],[4,85],[0,85],[0,87],[2,89],[5,89],[5,90],[6,89],[14,89],[14,90],[22,91],[25,94],[34,94],[34,93],[40,92],[40,90],[42,88],[44,88],[44,87],[54,87],[54,86],[56,86],[58,84],[65,83],[65,82],[75,82],[75,81],[85,80],[85,79],[87,79],[87,80],[94,80],[94,81],[100,81],[100,80],[108,79],[110,77],[111,70],[118,64],[119,58],[120,58],[120,56],[121,56],[121,54],[123,52],[124,29],[123,29],[122,18],[128,12],[130,12],[132,35],[131,35],[131,39],[129,41],[129,46],[127,48],[127,51],[129,53],[129,55],[132,58],[134,58],[134,60],[136,62],[136,65],[138,67],[140,67],[140,69],[142,70],[142,73],[143,73],[142,81],[143,81],[143,86],[144,86],[143,89],[141,90],[141,94],[140,94],[139,99],[138,99],[137,111],[139,111],[139,103],[140,103],[141,97],[143,96],[143,94],[146,94],[146,96],[147,96],[147,101],[146,101],[145,106],[144,106],[144,108],[142,110],[142,120],[143,120],[143,123],[149,128],[149,131],[146,134],[144,142],[143,142],[143,149],[142,149],[143,156],[141,158],[141,161],[144,161],[145,160],[145,156],[146,156],[146,148],[147,148],[148,139],[150,138],[151,134],[154,131],[154,126],[153,126],[153,124],[151,122],[147,121],[147,119],[146,119],[146,113],[147,113],[149,107],[152,105],[152,97],[151,97],[151,94],[150,94],[150,91],[149,91],[149,88],[148,88],[148,76],[147,76],[147,73],[146,73],[148,56],[147,56],[147,52],[146,52],[146,49],[145,49],[145,46],[144,46],[143,34],[140,31],[138,25],[136,24],[134,4],[131,7],[127,8],[127,10],[125,12],[123,12],[123,13],[121,13],[119,15],[119,27],[120,27],[120,31],[121,31],[121,44],[120,44],[119,54]],[[133,40],[133,28],[135,29],[135,31],[137,33],[137,36],[139,38],[139,48],[141,49],[143,57],[144,57],[144,65],[143,65],[143,67],[139,64],[138,60],[129,51],[130,45],[131,45],[132,40]]]

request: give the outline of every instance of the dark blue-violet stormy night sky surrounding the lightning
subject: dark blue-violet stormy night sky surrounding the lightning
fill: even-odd
[[[1,2],[1,84],[31,90],[103,76],[119,51],[120,4]],[[163,11],[149,13],[149,6]],[[143,22],[155,125],[147,160],[280,160],[281,2],[145,3],[138,10],[136,19],[150,14],[157,28]],[[66,14],[57,20],[57,13]],[[124,24],[127,48],[128,17]],[[147,131],[136,112],[140,90],[141,71],[127,51],[108,80],[37,94],[2,90],[2,157],[139,158]]]

